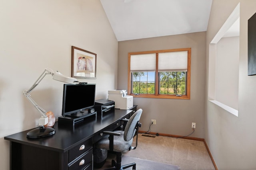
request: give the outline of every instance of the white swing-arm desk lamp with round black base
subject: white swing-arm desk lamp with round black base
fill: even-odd
[[[24,90],[23,95],[26,96],[26,98],[32,103],[33,106],[36,107],[36,109],[41,113],[41,118],[39,119],[39,128],[33,129],[27,133],[28,138],[42,138],[42,137],[47,137],[50,135],[53,135],[55,133],[55,129],[52,127],[45,127],[45,125],[48,123],[48,115],[46,114],[47,112],[42,109],[42,107],[38,106],[36,102],[31,98],[30,93],[36,86],[41,82],[41,80],[46,76],[47,74],[51,74],[54,80],[58,80],[60,82],[65,82],[69,84],[76,84],[78,81],[76,78],[64,76],[60,72],[56,71],[53,72],[52,69],[46,68],[44,72],[39,76],[39,78],[36,80],[36,82],[31,86],[30,89]]]

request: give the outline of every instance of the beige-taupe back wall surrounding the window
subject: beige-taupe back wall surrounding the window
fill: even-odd
[[[143,109],[142,131],[147,131],[151,119],[156,119],[152,132],[188,135],[195,122],[191,136],[204,138],[205,41],[206,32],[198,32],[118,42],[118,90],[127,90],[129,52],[191,48],[190,100],[134,98],[134,104]]]

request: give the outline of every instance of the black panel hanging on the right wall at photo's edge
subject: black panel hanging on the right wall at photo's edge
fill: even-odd
[[[248,76],[256,74],[256,13],[248,20]]]

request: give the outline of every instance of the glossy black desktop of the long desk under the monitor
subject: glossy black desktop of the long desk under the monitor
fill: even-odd
[[[41,139],[28,139],[26,134],[31,129],[6,136],[4,139],[42,149],[66,152],[78,143],[90,139],[94,134],[100,133],[102,129],[107,128],[131,112],[132,110],[115,109],[112,113],[108,113],[102,117],[98,116],[96,118],[92,117],[90,119],[86,119],[86,121],[78,123],[75,126],[58,125],[57,121],[54,125],[56,133]]]

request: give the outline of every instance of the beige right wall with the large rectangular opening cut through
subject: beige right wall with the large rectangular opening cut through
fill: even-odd
[[[219,170],[256,169],[256,76],[247,76],[247,24],[256,12],[255,0],[213,0],[206,32],[209,43],[240,2],[238,117],[209,102],[206,96],[205,139]],[[206,87],[208,87],[206,74]],[[208,92],[208,90],[206,89]],[[206,93],[207,95],[207,93]]]

